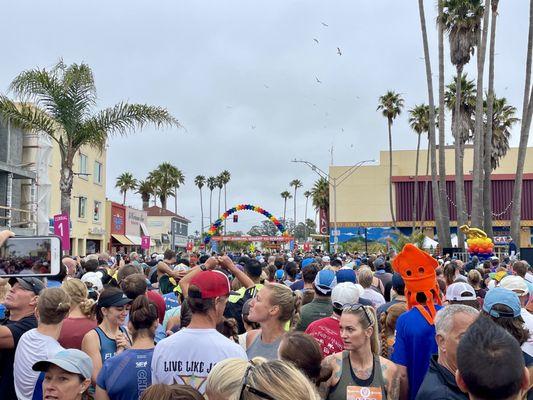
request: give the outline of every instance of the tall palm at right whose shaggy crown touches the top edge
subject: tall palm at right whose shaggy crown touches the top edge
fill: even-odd
[[[450,58],[455,65],[457,76],[463,76],[463,68],[470,62],[477,42],[477,31],[483,15],[483,6],[479,0],[444,0],[443,24],[450,41]],[[458,79],[456,85],[455,126],[452,133],[455,142],[455,192],[457,203],[457,226],[464,225],[467,221],[466,200],[464,189],[464,172],[462,169],[463,144],[461,138],[461,83]],[[453,122],[452,122],[453,125]],[[458,245],[464,246],[464,234],[457,230]]]

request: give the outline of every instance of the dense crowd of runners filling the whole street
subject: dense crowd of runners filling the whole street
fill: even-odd
[[[65,256],[0,280],[0,398],[533,398],[532,295],[524,261],[412,245]]]

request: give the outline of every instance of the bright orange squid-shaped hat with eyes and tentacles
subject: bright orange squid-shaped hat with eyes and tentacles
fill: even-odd
[[[433,325],[435,303],[441,305],[440,290],[437,284],[438,262],[425,251],[408,243],[403,250],[392,260],[392,267],[399,273],[405,282],[405,297],[409,309],[416,307],[424,318]],[[429,312],[417,301],[417,296],[423,294]],[[422,296],[419,296],[419,298]]]

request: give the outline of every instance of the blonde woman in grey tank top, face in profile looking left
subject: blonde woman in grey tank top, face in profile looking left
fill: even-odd
[[[252,299],[248,319],[257,322],[259,329],[246,335],[246,354],[251,360],[278,358],[278,347],[288,321],[294,326],[299,315],[300,298],[287,286],[267,283]]]

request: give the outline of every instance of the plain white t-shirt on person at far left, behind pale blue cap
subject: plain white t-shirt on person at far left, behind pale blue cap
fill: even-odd
[[[32,369],[37,361],[55,356],[63,347],[51,336],[43,335],[36,328],[21,336],[15,351],[15,391],[19,400],[31,400],[40,372]],[[1,396],[0,396],[1,397]]]

